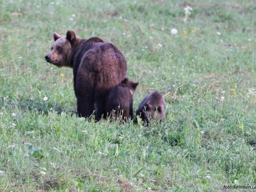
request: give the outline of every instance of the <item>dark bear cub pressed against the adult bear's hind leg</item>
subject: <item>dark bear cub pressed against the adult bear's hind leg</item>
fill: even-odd
[[[124,120],[133,118],[133,94],[139,83],[130,81],[127,77],[108,92],[106,111],[110,117],[122,117]]]

